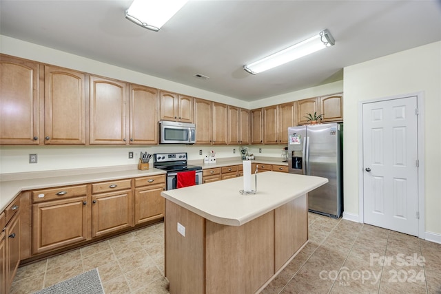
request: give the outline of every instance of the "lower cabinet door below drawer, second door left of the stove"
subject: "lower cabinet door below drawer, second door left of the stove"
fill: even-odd
[[[132,227],[132,191],[92,196],[92,238]]]

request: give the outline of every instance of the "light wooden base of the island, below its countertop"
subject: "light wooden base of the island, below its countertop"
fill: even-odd
[[[307,242],[307,230],[306,195],[239,227],[211,222],[166,200],[170,293],[256,293]]]

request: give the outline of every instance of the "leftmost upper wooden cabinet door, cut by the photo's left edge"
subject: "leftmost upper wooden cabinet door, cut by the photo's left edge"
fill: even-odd
[[[39,144],[39,64],[3,54],[0,144]]]

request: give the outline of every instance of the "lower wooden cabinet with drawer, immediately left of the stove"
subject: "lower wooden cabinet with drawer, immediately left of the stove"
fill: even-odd
[[[159,220],[165,214],[164,176],[150,176],[135,179],[134,224]]]

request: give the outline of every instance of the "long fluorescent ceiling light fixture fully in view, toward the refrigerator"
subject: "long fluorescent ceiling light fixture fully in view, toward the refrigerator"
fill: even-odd
[[[331,34],[329,34],[329,31],[323,30],[316,34],[316,36],[312,36],[296,45],[292,45],[289,48],[276,52],[254,63],[244,65],[243,69],[250,74],[258,74],[259,72],[264,72],[278,65],[283,65],[284,63],[299,59],[302,56],[314,53],[323,48],[331,47],[334,43],[336,43],[336,41]]]

